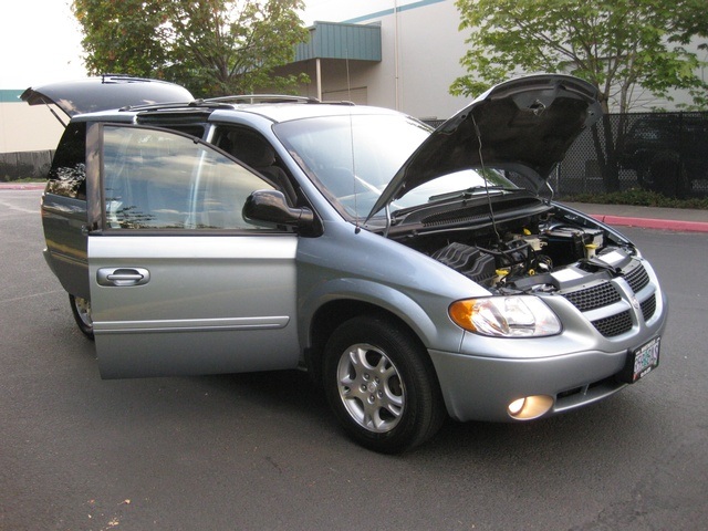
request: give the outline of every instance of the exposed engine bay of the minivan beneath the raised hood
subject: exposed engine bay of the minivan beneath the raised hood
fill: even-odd
[[[616,235],[560,209],[406,243],[492,293],[555,292],[622,274],[636,254]]]

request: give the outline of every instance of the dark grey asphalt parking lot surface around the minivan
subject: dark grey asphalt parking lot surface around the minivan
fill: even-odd
[[[353,445],[300,372],[102,381],[0,190],[1,530],[708,529],[708,235],[623,229],[667,291],[659,368],[594,406]]]

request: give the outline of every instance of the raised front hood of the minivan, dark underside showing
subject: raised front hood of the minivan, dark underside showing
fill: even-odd
[[[523,173],[538,192],[577,135],[602,115],[597,96],[590,83],[560,74],[530,75],[490,88],[415,150],[368,217],[417,186],[482,164]]]

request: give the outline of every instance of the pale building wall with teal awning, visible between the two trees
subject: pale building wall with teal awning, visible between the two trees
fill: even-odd
[[[313,0],[303,14],[310,42],[282,73],[306,72],[304,95],[447,118],[468,98],[449,86],[465,74],[454,0]]]

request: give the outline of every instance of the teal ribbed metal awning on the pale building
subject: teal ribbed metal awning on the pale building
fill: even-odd
[[[381,61],[381,24],[315,22],[295,49],[295,62],[310,59]]]

